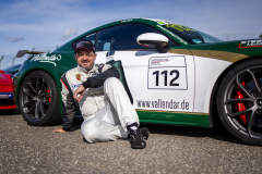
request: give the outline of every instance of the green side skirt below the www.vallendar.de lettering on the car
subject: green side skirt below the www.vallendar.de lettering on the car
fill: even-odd
[[[136,110],[140,122],[211,127],[209,113]]]

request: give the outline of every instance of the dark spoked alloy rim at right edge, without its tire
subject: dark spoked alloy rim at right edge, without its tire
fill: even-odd
[[[226,121],[238,133],[262,138],[262,66],[237,73],[227,84],[223,101]]]

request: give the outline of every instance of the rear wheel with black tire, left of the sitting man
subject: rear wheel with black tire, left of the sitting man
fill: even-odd
[[[59,90],[49,74],[43,71],[28,74],[19,95],[21,113],[27,124],[44,126],[61,123]]]

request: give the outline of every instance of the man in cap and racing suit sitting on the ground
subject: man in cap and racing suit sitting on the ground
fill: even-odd
[[[150,132],[139,127],[139,116],[118,79],[119,72],[109,64],[95,64],[95,48],[90,40],[80,40],[74,50],[78,66],[61,77],[62,128],[53,132],[72,130],[79,105],[84,119],[81,132],[87,142],[124,139],[130,135],[131,148],[145,148]]]

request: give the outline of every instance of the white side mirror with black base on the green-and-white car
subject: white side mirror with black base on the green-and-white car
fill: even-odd
[[[136,38],[136,41],[141,46],[155,48],[159,53],[166,53],[170,50],[170,47],[168,46],[168,38],[160,34],[142,34]]]

